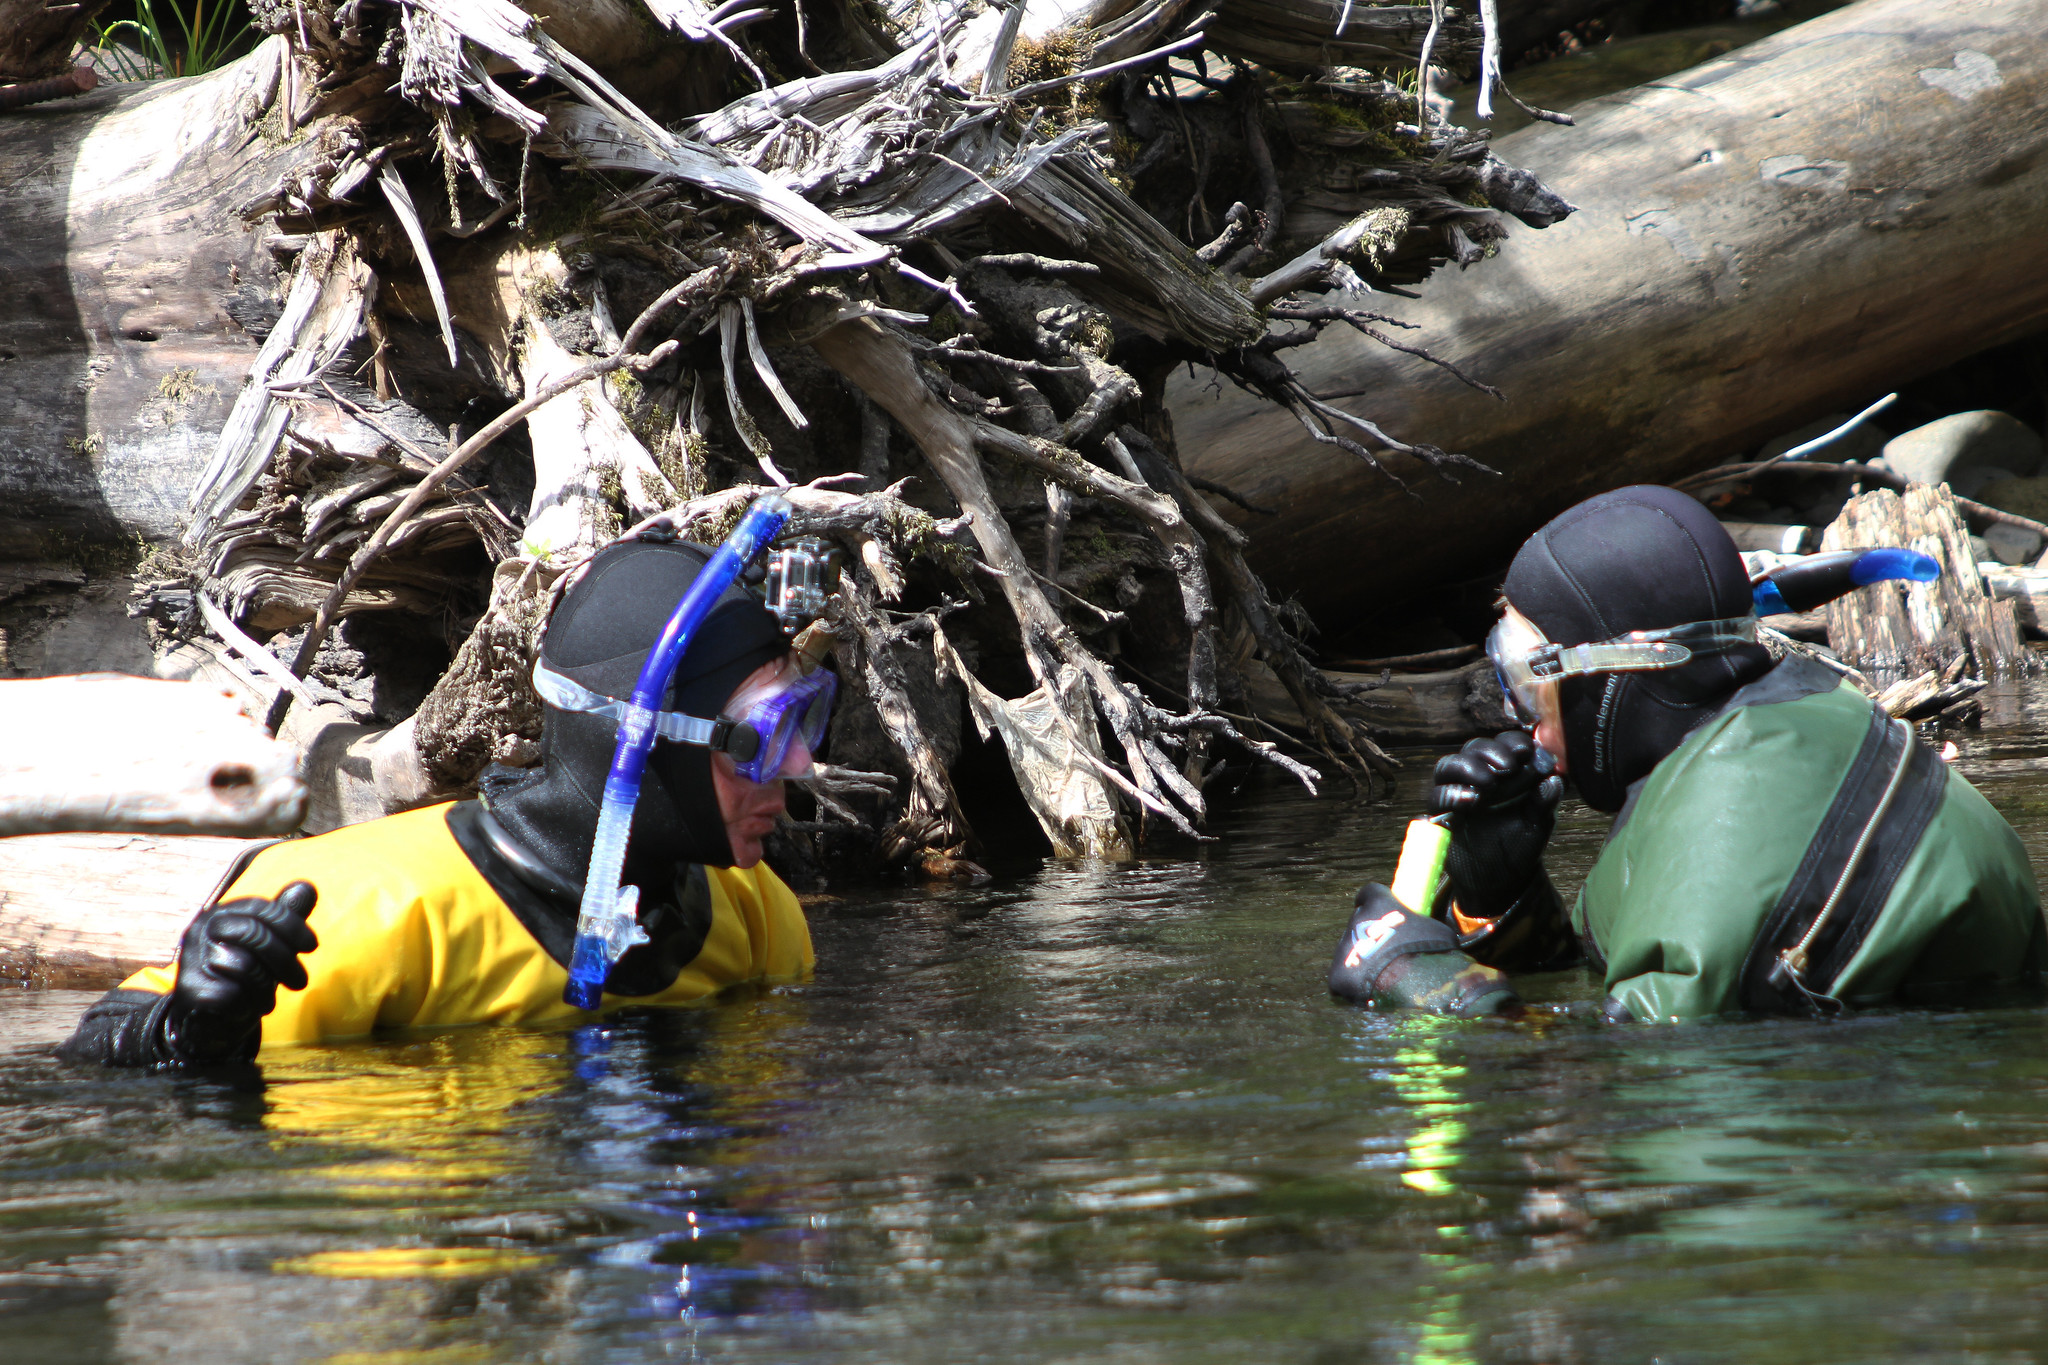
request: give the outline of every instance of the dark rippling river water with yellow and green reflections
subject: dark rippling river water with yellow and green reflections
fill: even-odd
[[[1962,765],[2048,862],[2038,700]],[[0,995],[0,1359],[2042,1359],[2048,1011],[1343,1009],[1409,757],[1198,860],[819,907],[813,984],[604,1027],[223,1083],[61,1066],[90,997]]]

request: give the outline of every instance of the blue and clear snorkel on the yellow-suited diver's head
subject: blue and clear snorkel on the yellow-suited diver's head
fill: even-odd
[[[569,984],[561,999],[578,1009],[596,1009],[604,997],[604,978],[612,964],[647,941],[639,925],[639,886],[621,886],[627,862],[627,837],[633,833],[633,806],[639,802],[641,774],[655,739],[655,712],[668,698],[676,665],[705,616],[733,585],[739,571],[776,538],[791,505],[778,493],[754,499],[739,526],[725,538],[690,581],[682,602],[662,628],[662,639],[647,651],[633,696],[618,714],[618,747],[604,776],[604,800],[598,806],[598,833],[590,845],[590,872],[584,876],[584,902],[575,919],[575,952],[569,958]]]

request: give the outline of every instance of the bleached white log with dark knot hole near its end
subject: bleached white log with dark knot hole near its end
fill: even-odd
[[[0,835],[287,833],[297,753],[203,684],[121,673],[0,681]]]

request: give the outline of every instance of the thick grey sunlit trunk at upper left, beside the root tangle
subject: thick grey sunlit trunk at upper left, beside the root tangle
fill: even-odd
[[[283,59],[0,119],[0,557],[178,530],[274,282],[238,209],[309,151],[258,133]]]

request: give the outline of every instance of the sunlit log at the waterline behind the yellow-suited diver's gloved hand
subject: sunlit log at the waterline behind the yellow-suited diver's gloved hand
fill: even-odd
[[[106,990],[170,962],[233,860],[262,839],[0,839],[0,984]]]

